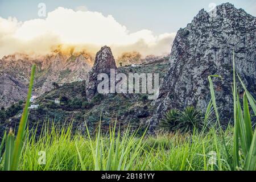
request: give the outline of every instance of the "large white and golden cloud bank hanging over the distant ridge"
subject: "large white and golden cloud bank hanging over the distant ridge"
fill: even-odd
[[[92,52],[108,45],[115,56],[127,51],[162,55],[170,52],[175,35],[154,35],[150,30],[130,32],[112,15],[58,7],[46,19],[18,22],[16,18],[0,17],[0,57],[16,52],[46,54],[58,45]]]

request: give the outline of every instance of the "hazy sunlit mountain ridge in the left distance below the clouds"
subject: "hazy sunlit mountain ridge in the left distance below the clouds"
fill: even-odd
[[[7,107],[26,98],[31,65],[36,64],[34,94],[41,94],[56,85],[86,80],[93,59],[86,53],[67,55],[55,53],[30,57],[22,54],[5,56],[0,60],[0,106]]]

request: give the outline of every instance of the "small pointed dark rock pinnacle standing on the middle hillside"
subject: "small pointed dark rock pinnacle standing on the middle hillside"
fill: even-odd
[[[86,81],[86,98],[88,100],[97,94],[97,86],[101,82],[97,80],[98,74],[106,73],[110,76],[110,69],[117,69],[117,66],[110,47],[104,46],[97,52],[94,65],[88,73]]]

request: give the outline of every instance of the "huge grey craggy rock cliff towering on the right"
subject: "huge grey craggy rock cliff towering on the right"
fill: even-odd
[[[230,3],[212,13],[201,10],[191,23],[181,28],[174,40],[170,69],[160,85],[156,111],[148,120],[151,130],[171,108],[193,105],[205,110],[210,101],[209,75],[213,79],[222,123],[232,117],[232,61],[236,71],[256,96],[256,18]],[[241,90],[242,91],[242,90]]]

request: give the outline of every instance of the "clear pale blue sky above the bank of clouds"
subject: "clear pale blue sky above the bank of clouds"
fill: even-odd
[[[38,4],[46,3],[47,11],[57,7],[76,10],[84,7],[89,11],[98,11],[103,15],[113,15],[117,22],[124,24],[130,31],[148,29],[155,34],[175,32],[191,22],[200,9],[209,10],[210,3],[220,5],[230,2],[247,13],[256,16],[255,0],[0,0],[0,16],[14,16],[18,20],[38,18]]]

